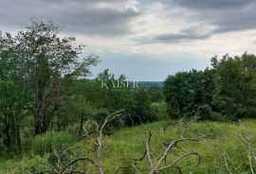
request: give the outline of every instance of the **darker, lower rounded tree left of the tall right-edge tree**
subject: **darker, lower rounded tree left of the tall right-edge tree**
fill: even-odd
[[[213,70],[179,72],[164,83],[168,113],[174,118],[192,116],[201,106],[211,107],[214,89]]]

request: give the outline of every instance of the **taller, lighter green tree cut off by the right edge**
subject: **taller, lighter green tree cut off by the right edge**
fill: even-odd
[[[254,117],[256,110],[256,57],[225,55],[214,74],[213,104],[232,119]]]

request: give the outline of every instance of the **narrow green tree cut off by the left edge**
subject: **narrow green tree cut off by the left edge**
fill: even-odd
[[[15,51],[15,40],[0,36],[0,117],[4,145],[22,151],[21,120],[29,113],[29,87],[23,61]],[[1,121],[1,120],[0,120]]]

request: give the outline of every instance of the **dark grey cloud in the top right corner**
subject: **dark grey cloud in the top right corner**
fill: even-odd
[[[161,1],[166,9],[181,8],[189,13],[191,22],[214,26],[211,34],[243,31],[256,28],[254,0],[176,0]]]

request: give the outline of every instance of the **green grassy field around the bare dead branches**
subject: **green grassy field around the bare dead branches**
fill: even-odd
[[[152,152],[154,163],[163,153],[165,146],[163,143],[174,140],[179,137],[180,129],[178,126],[169,127],[166,133],[163,132],[164,126],[168,122],[155,122],[146,124],[146,130],[152,131],[152,141],[150,150]],[[251,140],[252,146],[256,145],[256,120],[245,120],[243,122],[243,130],[247,137]],[[241,140],[240,127],[238,123],[219,123],[219,122],[202,122],[192,123],[186,137],[195,137],[198,133],[214,135],[214,139],[206,139],[199,142],[181,143],[180,148],[185,151],[197,151],[201,156],[201,162],[196,165],[196,158],[190,157],[181,163],[183,173],[227,173],[222,167],[229,165],[232,173],[250,173],[247,163],[247,148]],[[36,137],[30,142],[31,152],[23,155],[24,157],[16,157],[8,159],[7,157],[0,159],[0,173],[35,173],[38,171],[48,170],[52,167],[54,160],[52,145],[68,143],[72,141],[72,131],[47,132],[44,136]],[[56,137],[59,137],[56,141]],[[52,142],[55,143],[53,144]],[[138,159],[144,152],[145,134],[141,126],[134,128],[125,128],[116,130],[110,136],[105,136],[103,145],[103,169],[105,173],[115,173],[119,166],[130,166],[133,159]],[[72,156],[96,156],[95,147],[88,141],[83,140],[74,146],[66,155],[66,158]],[[182,151],[178,148],[172,150],[167,158],[167,164],[171,164],[181,155]],[[228,154],[227,164],[225,163],[223,154]],[[255,165],[255,164],[254,164]],[[86,163],[80,163],[80,167],[89,168],[93,173],[95,168]],[[149,172],[147,161],[143,161],[137,165],[142,173]],[[88,170],[87,170],[88,171]],[[119,173],[136,173],[132,169],[121,169]],[[168,169],[161,173],[178,173],[174,169]]]

